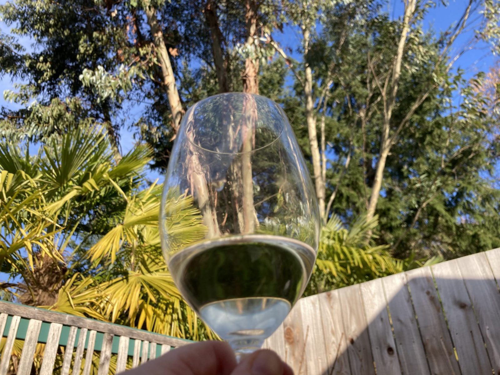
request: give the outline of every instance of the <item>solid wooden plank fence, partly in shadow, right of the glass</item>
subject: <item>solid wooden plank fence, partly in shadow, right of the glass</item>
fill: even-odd
[[[302,298],[265,346],[295,375],[500,373],[500,248]]]

